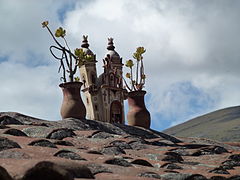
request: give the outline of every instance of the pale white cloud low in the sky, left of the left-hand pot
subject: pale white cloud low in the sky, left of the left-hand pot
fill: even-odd
[[[60,119],[61,89],[55,66],[26,67],[18,63],[0,63],[0,109],[39,118]]]

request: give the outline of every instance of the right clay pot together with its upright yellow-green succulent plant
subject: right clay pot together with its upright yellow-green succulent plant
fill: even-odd
[[[136,52],[133,53],[136,68],[133,68],[134,62],[129,59],[126,61],[125,66],[129,72],[126,73],[128,82],[123,78],[128,92],[128,125],[140,126],[146,129],[150,128],[151,116],[145,106],[144,96],[146,91],[143,90],[146,75],[143,66],[143,54],[146,52],[144,47],[138,47]]]

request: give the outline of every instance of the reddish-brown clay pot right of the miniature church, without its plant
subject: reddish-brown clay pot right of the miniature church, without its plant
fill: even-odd
[[[132,91],[128,93],[128,125],[150,128],[151,117],[145,106],[145,94],[146,91]]]

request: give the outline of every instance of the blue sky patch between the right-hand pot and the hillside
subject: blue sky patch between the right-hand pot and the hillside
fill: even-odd
[[[165,102],[165,97],[168,98],[166,105],[169,108],[159,109],[159,112],[151,112],[152,129],[164,130],[172,126],[173,123],[181,123],[196,115],[205,114],[217,104],[216,99],[188,81],[170,86],[162,97],[163,102]],[[147,93],[145,97],[147,107],[151,106],[153,98],[150,93]],[[159,102],[159,105],[155,104],[154,107],[158,109],[160,103],[162,102]]]

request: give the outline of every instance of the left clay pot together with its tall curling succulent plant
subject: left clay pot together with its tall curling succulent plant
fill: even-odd
[[[82,102],[80,94],[83,83],[80,82],[80,78],[75,74],[80,65],[84,64],[86,61],[93,61],[94,56],[90,54],[91,51],[88,48],[76,48],[72,51],[66,40],[66,30],[62,27],[56,29],[55,34],[53,34],[48,27],[48,21],[44,21],[42,27],[48,30],[55,42],[55,45],[51,45],[49,50],[52,56],[60,62],[58,72],[62,71],[61,80],[63,80],[64,83],[59,85],[63,92],[63,101],[60,109],[61,117],[62,119],[84,119],[86,117],[86,107]],[[59,40],[59,38],[61,40]],[[84,37],[84,46],[89,46],[87,36]],[[85,53],[84,50],[89,54]],[[58,51],[57,54],[56,51]]]

